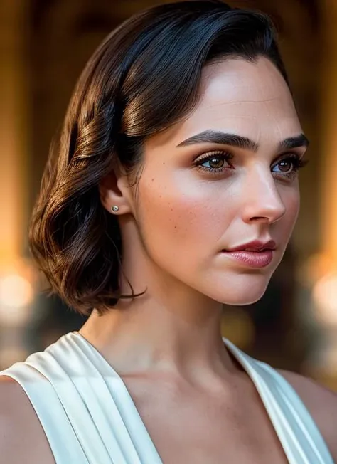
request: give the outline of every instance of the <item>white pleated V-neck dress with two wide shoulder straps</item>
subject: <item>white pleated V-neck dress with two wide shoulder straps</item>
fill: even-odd
[[[224,339],[254,382],[290,464],[333,464],[290,384]],[[162,464],[121,377],[78,332],[60,337],[0,375],[23,387],[56,464]]]

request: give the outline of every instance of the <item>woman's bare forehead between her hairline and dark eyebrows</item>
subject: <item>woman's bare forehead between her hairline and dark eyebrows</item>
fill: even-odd
[[[255,63],[231,59],[204,68],[198,105],[176,126],[173,137],[177,141],[210,128],[257,142],[301,132],[287,83],[267,58]]]

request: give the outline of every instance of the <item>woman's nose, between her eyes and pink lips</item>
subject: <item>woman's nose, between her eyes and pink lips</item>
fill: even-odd
[[[247,174],[243,189],[242,219],[246,223],[274,223],[286,208],[269,167],[255,167]]]

